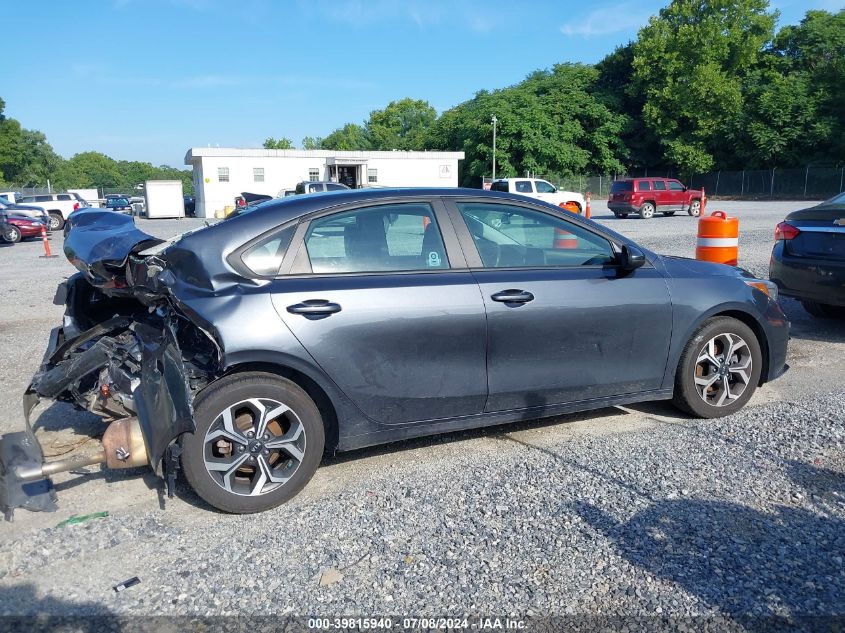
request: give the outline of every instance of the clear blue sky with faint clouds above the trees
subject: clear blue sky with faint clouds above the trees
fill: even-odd
[[[4,8],[6,114],[65,157],[181,166],[192,146],[324,136],[393,99],[438,112],[596,62],[663,2],[77,0]],[[781,24],[843,0],[778,0]]]

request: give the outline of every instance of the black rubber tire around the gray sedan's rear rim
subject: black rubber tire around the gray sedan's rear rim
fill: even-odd
[[[281,439],[285,433],[293,428],[294,422],[290,420],[298,420],[303,431],[303,442],[298,448],[302,450],[303,456],[298,465],[295,466],[293,474],[286,481],[283,483],[265,483],[264,486],[276,487],[255,496],[247,496],[247,490],[251,491],[252,486],[257,486],[253,482],[258,480],[258,473],[261,470],[256,462],[256,457],[252,456],[253,454],[258,456],[258,460],[262,460],[261,463],[264,466],[267,466],[268,462],[276,458],[275,466],[272,467],[273,472],[279,470],[280,475],[285,475],[285,471],[291,468],[291,464],[296,461],[296,458],[292,457],[293,453],[277,452],[269,457],[262,457],[262,453],[267,455],[266,451],[261,450],[263,445],[255,450],[255,445],[261,444],[259,440],[262,438],[259,437],[253,437],[249,440],[249,444],[244,444],[244,449],[240,448],[240,444],[237,445],[237,451],[236,444],[228,442],[228,455],[224,453],[222,460],[225,460],[226,463],[234,463],[237,459],[233,458],[237,457],[238,453],[243,454],[243,457],[248,460],[243,462],[243,465],[235,470],[230,478],[234,480],[234,482],[229,481],[230,488],[233,490],[224,488],[224,484],[215,478],[216,475],[211,474],[211,470],[206,466],[206,459],[209,457],[213,460],[217,457],[213,452],[219,449],[221,440],[224,445],[227,443],[224,436],[215,436],[215,431],[210,431],[214,425],[214,428],[219,432],[222,427],[223,413],[233,410],[234,407],[247,401],[258,399],[262,403],[275,401],[277,404],[283,404],[289,407],[292,412],[273,419],[263,437],[265,439],[271,438],[271,442],[273,438]],[[240,410],[234,409],[235,412]],[[232,416],[233,424],[239,435],[241,432],[248,434],[255,428],[252,426],[255,421],[254,417],[252,422],[245,422],[254,413],[254,410],[243,410],[245,411],[243,415],[233,414]],[[185,471],[188,483],[191,484],[196,493],[209,504],[224,512],[248,514],[263,512],[281,505],[305,487],[323,457],[325,429],[317,406],[299,385],[274,374],[244,372],[217,380],[197,396],[194,402],[194,420],[197,426],[196,431],[182,436],[182,469]],[[282,422],[277,422],[277,420],[282,420]],[[284,424],[291,426],[285,429]],[[273,425],[276,425],[277,431],[273,430]],[[208,445],[208,450],[206,445]],[[279,457],[280,455],[284,455],[284,457]],[[282,460],[286,460],[287,468],[283,468],[285,463]],[[250,465],[250,462],[254,465]],[[250,469],[253,469],[251,474]],[[233,469],[220,475],[220,480],[225,481],[229,472],[233,472]],[[238,473],[244,472],[246,472],[245,475],[236,477]],[[242,486],[240,494],[234,491],[236,485]]]

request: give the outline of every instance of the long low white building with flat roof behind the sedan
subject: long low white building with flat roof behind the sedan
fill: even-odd
[[[463,152],[357,152],[300,149],[194,147],[197,217],[234,204],[242,192],[277,196],[303,180],[331,180],[349,187],[457,187]]]

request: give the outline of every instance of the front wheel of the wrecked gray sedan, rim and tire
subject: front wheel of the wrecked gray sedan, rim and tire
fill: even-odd
[[[710,319],[684,348],[672,402],[702,418],[730,415],[754,394],[761,369],[760,344],[751,328],[729,317]]]

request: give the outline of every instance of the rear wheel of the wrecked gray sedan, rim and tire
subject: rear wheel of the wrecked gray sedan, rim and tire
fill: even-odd
[[[296,495],[323,456],[320,413],[297,384],[233,374],[197,398],[197,429],[182,438],[182,467],[196,493],[224,512],[274,508]]]

